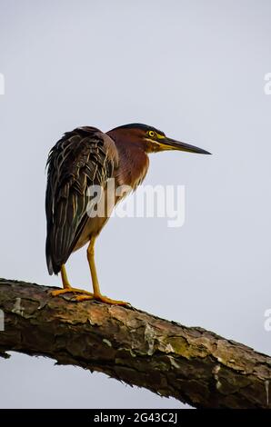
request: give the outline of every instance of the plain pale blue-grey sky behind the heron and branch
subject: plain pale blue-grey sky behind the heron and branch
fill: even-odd
[[[146,184],[186,185],[186,223],[109,221],[103,292],[270,353],[270,14],[265,0],[0,0],[0,275],[59,283],[45,266],[45,162],[65,131],[152,124],[213,156],[151,157]],[[67,270],[90,287],[85,250]],[[25,355],[1,360],[0,378],[1,407],[180,406]]]

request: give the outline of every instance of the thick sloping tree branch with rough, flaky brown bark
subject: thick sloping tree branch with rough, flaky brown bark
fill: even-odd
[[[270,357],[202,328],[51,290],[0,279],[2,356],[51,357],[197,408],[271,408]]]

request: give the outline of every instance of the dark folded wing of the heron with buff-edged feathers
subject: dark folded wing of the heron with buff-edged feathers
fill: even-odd
[[[45,210],[50,274],[73,252],[89,218],[90,185],[105,188],[118,163],[114,141],[94,127],[66,133],[50,151]]]

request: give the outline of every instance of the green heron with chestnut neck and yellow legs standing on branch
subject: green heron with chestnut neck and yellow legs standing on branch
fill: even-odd
[[[52,296],[72,293],[76,302],[95,300],[107,304],[128,304],[101,293],[95,268],[95,240],[115,204],[126,195],[112,196],[108,183],[113,179],[115,188],[128,185],[135,190],[146,177],[149,154],[168,150],[210,154],[194,145],[169,138],[156,127],[138,123],[124,124],[106,133],[92,126],[77,127],[66,132],[50,150],[46,163],[45,255],[49,274],[61,273],[63,286],[54,290]],[[102,194],[96,198],[91,191],[95,188],[100,188]],[[107,207],[105,214],[95,214],[102,203]],[[86,244],[93,293],[73,287],[65,270],[71,253]]]

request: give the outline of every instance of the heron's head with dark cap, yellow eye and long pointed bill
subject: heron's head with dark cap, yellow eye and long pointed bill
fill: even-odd
[[[211,154],[195,145],[182,143],[168,138],[164,132],[146,124],[125,124],[115,127],[108,132],[114,139],[121,139],[127,143],[140,144],[146,153],[157,153],[166,150],[186,151],[188,153]]]

